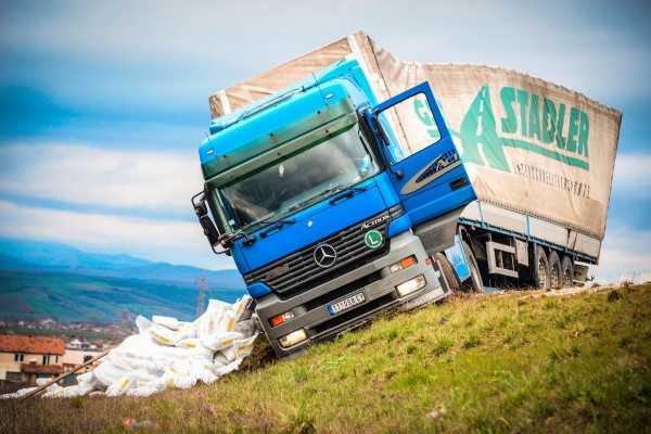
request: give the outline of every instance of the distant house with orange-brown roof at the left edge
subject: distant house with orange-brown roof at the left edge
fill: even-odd
[[[0,381],[36,384],[63,373],[63,341],[53,337],[0,335]]]

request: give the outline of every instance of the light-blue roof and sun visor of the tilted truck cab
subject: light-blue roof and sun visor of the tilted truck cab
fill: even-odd
[[[311,79],[215,119],[212,135],[199,150],[204,179],[217,183],[237,179],[247,162],[278,159],[357,122],[355,110],[368,97],[355,68],[357,61],[339,62]]]

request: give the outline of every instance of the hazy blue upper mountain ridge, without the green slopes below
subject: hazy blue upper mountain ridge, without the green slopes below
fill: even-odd
[[[87,253],[56,242],[0,238],[0,270],[39,271],[194,284],[202,270],[196,267],[153,263],[129,255]],[[237,270],[206,270],[210,286],[244,290]]]

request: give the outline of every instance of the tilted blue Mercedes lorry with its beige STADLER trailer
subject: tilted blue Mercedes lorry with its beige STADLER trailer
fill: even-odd
[[[209,99],[195,213],[279,357],[460,289],[585,281],[621,113],[357,33]]]

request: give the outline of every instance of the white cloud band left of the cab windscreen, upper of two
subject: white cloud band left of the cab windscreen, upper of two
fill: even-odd
[[[74,144],[0,146],[0,193],[77,205],[194,216],[196,151],[108,150]]]

